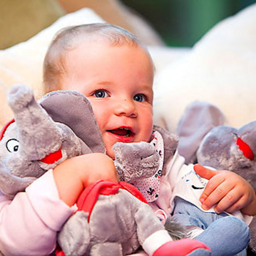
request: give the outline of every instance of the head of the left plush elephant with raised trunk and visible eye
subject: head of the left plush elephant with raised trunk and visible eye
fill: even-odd
[[[92,152],[87,142],[94,145],[95,151],[104,152],[101,136],[93,135],[100,134],[100,131],[84,96],[71,91],[55,92],[42,99],[43,108],[30,88],[18,85],[10,89],[8,104],[14,119],[3,128],[0,137],[0,190],[7,197],[13,198],[34,179],[65,159]],[[68,125],[54,121],[45,110],[61,112],[57,117],[52,114],[54,118],[65,115],[65,119],[69,119],[75,116],[69,106],[74,104],[78,109],[82,108],[83,116],[86,116],[80,124],[87,125],[86,142]]]

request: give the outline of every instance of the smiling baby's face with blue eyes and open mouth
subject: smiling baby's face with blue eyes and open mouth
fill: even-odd
[[[86,42],[68,51],[65,67],[61,89],[90,100],[110,157],[116,142],[150,140],[154,70],[144,49]]]

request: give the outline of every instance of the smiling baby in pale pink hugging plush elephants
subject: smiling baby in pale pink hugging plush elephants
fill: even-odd
[[[147,49],[124,29],[109,24],[89,24],[70,27],[57,34],[44,61],[45,92],[76,90],[84,94],[92,104],[107,154],[92,153],[68,159],[32,183],[12,202],[0,197],[0,231],[5,231],[0,232],[0,250],[4,248],[3,251],[12,254],[19,254],[22,250],[20,254],[27,255],[52,252],[57,231],[73,213],[72,206],[82,189],[97,180],[117,180],[113,164],[113,145],[116,142],[150,142],[156,137],[160,141],[158,150],[164,152],[168,149],[168,145],[161,143],[161,133],[153,135],[153,79],[154,66]],[[172,196],[172,186],[177,178],[175,173],[184,168],[190,168],[190,173],[194,173],[195,168],[200,176],[209,179],[197,198],[198,209],[202,213],[215,206],[219,213],[240,209],[242,214],[256,214],[256,196],[247,181],[229,171],[188,167],[177,152],[169,163],[160,166],[163,172],[157,175],[157,181],[149,178],[145,184],[138,184],[157,213],[166,217],[173,211],[175,200],[177,205],[179,200],[187,200],[182,194]],[[193,175],[197,177],[195,173]],[[40,190],[44,186],[47,186],[47,193]],[[49,191],[53,191],[52,194]],[[31,211],[33,218],[30,219],[36,223],[35,227],[25,221],[29,215],[21,211],[20,202],[23,202],[23,207],[26,205],[26,211]],[[58,214],[54,212],[57,205]],[[17,217],[15,209],[24,212],[18,219],[19,230],[22,230],[20,234],[12,232],[17,230],[13,223]],[[207,232],[200,231],[200,235],[194,232],[195,239],[210,247],[215,253],[213,255],[232,255],[242,251],[248,243],[248,227],[226,213],[217,216],[216,219],[229,218],[222,221],[225,232],[222,237],[217,236],[215,241],[211,239],[220,226],[211,219],[204,226]],[[235,225],[232,232],[226,229],[226,223]],[[215,225],[207,229],[211,224]],[[186,225],[191,226],[190,223]],[[193,226],[197,225],[193,223]],[[197,232],[198,227],[193,230]],[[230,248],[230,241],[223,240],[223,237],[234,241],[239,239],[239,242],[232,243]],[[30,243],[24,244],[24,241]]]

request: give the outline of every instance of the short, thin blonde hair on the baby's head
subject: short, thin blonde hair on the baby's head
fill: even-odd
[[[60,89],[61,74],[65,72],[65,52],[73,49],[81,40],[90,40],[95,37],[106,40],[111,46],[140,46],[148,52],[135,35],[115,25],[93,23],[66,27],[55,35],[45,55],[43,63],[44,93]]]

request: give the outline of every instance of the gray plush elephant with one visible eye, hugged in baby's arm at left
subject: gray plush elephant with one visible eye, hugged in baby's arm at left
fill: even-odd
[[[0,137],[0,190],[10,199],[67,158],[105,152],[91,105],[82,94],[57,91],[47,94],[39,103],[25,86],[13,86],[8,94],[14,120],[3,128]],[[120,175],[124,174],[121,168],[124,157],[126,167],[131,168],[136,163],[135,172],[124,175],[124,179],[132,182],[156,172],[159,156],[150,144],[129,143],[123,147],[121,143],[116,149],[119,147],[115,165]],[[169,157],[171,152],[167,151]],[[114,194],[99,192],[90,221],[88,212],[82,209],[64,224],[58,237],[64,253],[123,255],[143,245],[150,255],[162,255],[166,250],[169,250],[168,255],[177,255],[180,245],[186,244],[190,255],[198,255],[198,251],[209,255],[201,242],[172,242],[151,208],[128,192],[126,186],[120,187],[120,183],[116,186]],[[159,235],[163,240],[155,243],[154,238]]]

